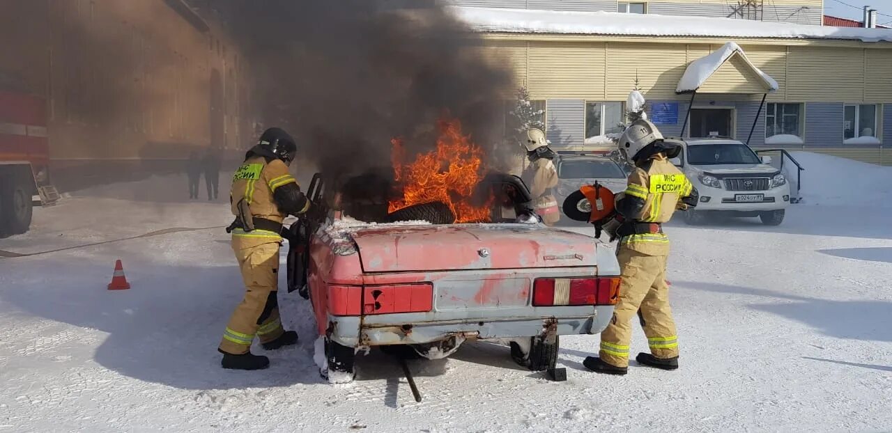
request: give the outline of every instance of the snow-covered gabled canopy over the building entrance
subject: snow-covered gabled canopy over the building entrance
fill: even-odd
[[[676,94],[767,94],[778,82],[756,68],[740,45],[725,43],[722,48],[691,61],[675,88]]]

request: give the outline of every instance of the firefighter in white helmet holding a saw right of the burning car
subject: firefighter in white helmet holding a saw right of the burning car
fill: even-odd
[[[681,147],[666,143],[650,121],[633,122],[618,144],[635,166],[625,192],[618,194],[621,197],[616,200],[616,212],[621,224],[611,233],[611,238],[619,240],[616,257],[622,270],[620,299],[613,318],[601,332],[599,356],[589,356],[583,364],[594,372],[625,374],[632,317],[637,314],[648,337],[650,353],[640,353],[635,360],[650,367],[675,370],[678,340],[665,282],[669,238],[662,225],[676,208],[696,206],[698,192],[669,162],[678,156]]]

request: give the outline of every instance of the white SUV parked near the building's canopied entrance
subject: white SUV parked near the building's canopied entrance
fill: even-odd
[[[679,143],[681,154],[673,159],[697,186],[700,201],[684,212],[685,222],[702,224],[714,214],[760,217],[765,225],[780,225],[789,206],[789,184],[780,170],[769,165],[770,157],[737,140],[668,139]]]

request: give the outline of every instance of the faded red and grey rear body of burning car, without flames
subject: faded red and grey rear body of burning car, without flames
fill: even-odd
[[[329,212],[308,244],[319,336],[342,348],[409,345],[448,355],[466,339],[526,340],[518,347],[529,352],[537,341],[602,331],[617,299],[612,250],[538,218],[514,221],[369,224]],[[330,347],[326,355],[330,364]]]

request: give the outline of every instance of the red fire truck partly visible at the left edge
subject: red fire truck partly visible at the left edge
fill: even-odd
[[[0,90],[0,237],[28,231],[32,207],[54,204],[43,98]]]

